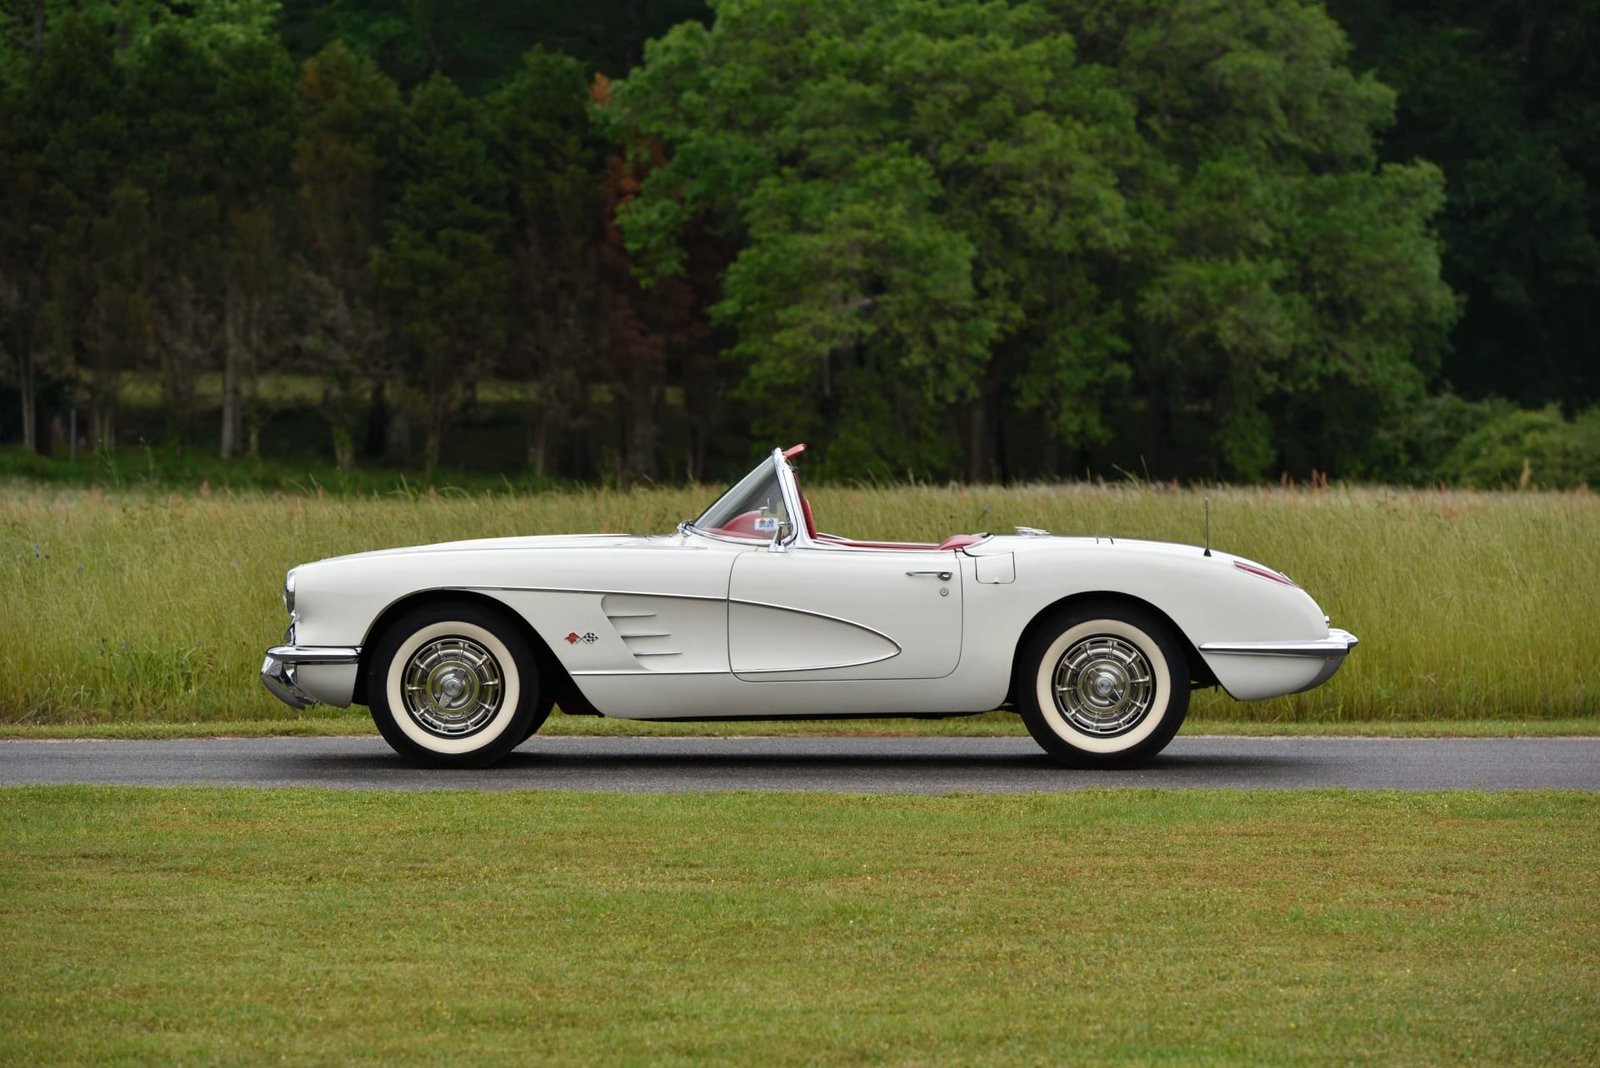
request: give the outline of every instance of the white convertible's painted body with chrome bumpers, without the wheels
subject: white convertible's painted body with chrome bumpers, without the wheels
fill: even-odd
[[[771,462],[787,515],[800,515],[792,468],[776,452]],[[291,703],[347,705],[355,657],[387,609],[462,592],[525,620],[606,716],[982,711],[1005,700],[1040,614],[1104,595],[1165,614],[1216,681],[1250,700],[1325,681],[1355,643],[1275,574],[1190,545],[1035,534],[883,548],[685,524],[654,537],[450,542],[296,568],[291,638],[269,651],[262,676]]]

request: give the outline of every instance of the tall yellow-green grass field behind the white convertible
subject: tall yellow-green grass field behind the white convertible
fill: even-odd
[[[0,489],[0,723],[282,719],[258,681],[309,560],[466,537],[667,532],[709,488],[549,494],[152,494]],[[1362,638],[1309,694],[1194,718],[1600,715],[1600,497],[1589,491],[1126,486],[814,488],[821,526],[938,540],[1040,526],[1198,544],[1293,576]],[[318,715],[315,710],[304,715]]]

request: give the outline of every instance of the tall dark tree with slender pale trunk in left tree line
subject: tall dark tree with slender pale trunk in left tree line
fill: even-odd
[[[248,14],[248,11],[246,11]],[[147,299],[174,435],[194,382],[221,355],[221,452],[237,454],[256,371],[280,318],[278,216],[294,136],[293,66],[251,21],[160,21],[130,48],[136,150],[128,177],[150,205]],[[221,341],[221,344],[219,344]],[[251,441],[256,419],[251,419]],[[251,448],[251,452],[256,449]]]

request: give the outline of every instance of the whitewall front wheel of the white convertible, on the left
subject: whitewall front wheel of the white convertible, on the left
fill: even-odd
[[[549,715],[526,638],[477,604],[406,612],[378,640],[366,670],[373,723],[422,767],[493,764]]]

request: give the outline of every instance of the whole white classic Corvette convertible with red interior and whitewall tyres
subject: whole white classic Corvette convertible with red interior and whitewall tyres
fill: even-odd
[[[1189,692],[1328,681],[1355,646],[1288,576],[1189,545],[822,534],[773,449],[653,537],[501,537],[288,572],[261,679],[365,703],[403,758],[482,767],[563,711],[627,719],[970,715],[1010,703],[1062,764],[1158,753]]]

